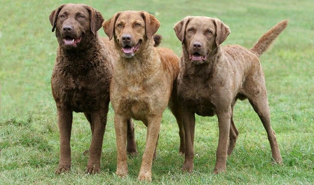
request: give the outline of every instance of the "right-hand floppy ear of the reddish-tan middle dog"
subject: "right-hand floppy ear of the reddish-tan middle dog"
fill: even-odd
[[[147,12],[141,12],[141,16],[145,22],[146,37],[148,40],[157,32],[160,22],[153,15]]]

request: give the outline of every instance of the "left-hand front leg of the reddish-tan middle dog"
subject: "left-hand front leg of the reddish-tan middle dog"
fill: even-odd
[[[126,140],[127,140],[127,129],[128,119],[118,113],[114,114],[114,130],[117,142],[117,171],[116,174],[120,177],[128,175],[128,164],[127,164],[127,151],[126,151]]]

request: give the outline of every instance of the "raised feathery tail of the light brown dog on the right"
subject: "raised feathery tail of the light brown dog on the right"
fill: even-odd
[[[272,29],[268,30],[259,41],[250,49],[256,56],[260,56],[264,53],[273,41],[278,37],[278,35],[287,27],[288,20],[282,20],[277,23]]]

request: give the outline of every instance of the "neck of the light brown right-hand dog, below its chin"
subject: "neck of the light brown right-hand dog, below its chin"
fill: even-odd
[[[186,48],[183,46],[183,48]],[[183,75],[186,77],[202,77],[210,78],[214,73],[214,66],[219,61],[222,55],[221,48],[215,48],[211,53],[208,54],[207,60],[202,64],[194,64],[189,59],[189,54],[186,49],[183,49],[183,58],[181,59],[181,66]]]

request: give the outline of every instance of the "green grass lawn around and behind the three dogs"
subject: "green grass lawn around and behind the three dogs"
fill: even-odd
[[[108,115],[100,174],[85,175],[91,131],[81,113],[74,113],[71,138],[72,168],[55,175],[59,135],[50,77],[57,41],[51,32],[50,13],[70,1],[4,0],[0,11],[0,185],[11,184],[138,184],[146,128],[135,122],[140,152],[129,159],[129,176],[118,178],[113,111]],[[73,0],[71,2],[81,2]],[[216,117],[196,117],[195,162],[192,174],[181,171],[179,136],[174,117],[164,113],[158,158],[152,184],[314,184],[314,22],[312,0],[86,0],[105,19],[117,11],[146,10],[161,22],[162,46],[181,55],[173,25],[185,16],[222,19],[230,29],[224,44],[252,47],[282,19],[289,26],[263,66],[272,126],[284,165],[272,164],[267,135],[248,101],[238,102],[234,119],[240,131],[237,146],[227,161],[227,173],[213,175],[218,144]],[[99,30],[105,36],[103,30]]]

